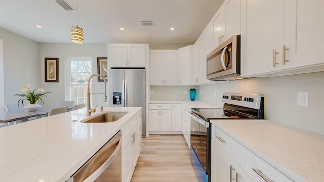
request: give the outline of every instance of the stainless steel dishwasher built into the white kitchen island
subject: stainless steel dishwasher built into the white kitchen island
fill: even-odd
[[[121,181],[120,130],[67,180],[76,181]]]

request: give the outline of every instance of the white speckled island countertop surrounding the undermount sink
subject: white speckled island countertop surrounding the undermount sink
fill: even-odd
[[[1,127],[0,181],[67,180],[140,110],[104,107],[104,112],[129,112],[110,123],[79,122],[91,117],[79,109]]]

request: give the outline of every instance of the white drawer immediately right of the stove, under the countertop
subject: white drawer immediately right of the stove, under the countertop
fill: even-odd
[[[212,140],[215,141],[235,162],[238,158],[238,143],[229,135],[212,125]]]

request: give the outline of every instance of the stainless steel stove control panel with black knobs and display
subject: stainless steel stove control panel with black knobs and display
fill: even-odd
[[[261,99],[263,98],[263,94],[224,93],[222,101],[226,104],[260,109]]]

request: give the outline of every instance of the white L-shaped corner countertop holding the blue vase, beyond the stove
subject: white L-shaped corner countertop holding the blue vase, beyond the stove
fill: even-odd
[[[200,101],[180,101],[180,100],[179,101],[157,101],[157,100],[149,101],[149,104],[168,104],[168,103],[183,104],[189,109],[190,108],[223,108],[223,106],[217,107]]]

